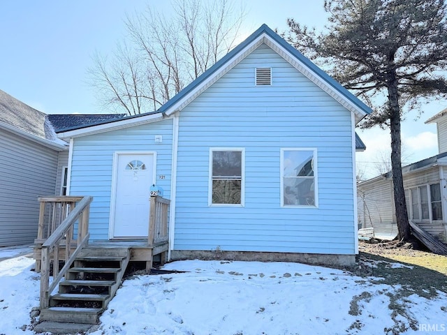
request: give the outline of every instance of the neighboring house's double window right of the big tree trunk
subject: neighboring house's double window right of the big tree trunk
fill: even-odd
[[[423,185],[405,190],[405,200],[411,219],[442,220],[440,184]]]

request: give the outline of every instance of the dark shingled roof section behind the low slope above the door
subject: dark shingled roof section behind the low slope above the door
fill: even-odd
[[[60,133],[123,119],[126,114],[49,114],[54,131]]]

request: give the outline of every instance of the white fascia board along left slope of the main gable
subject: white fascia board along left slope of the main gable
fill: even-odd
[[[200,84],[197,85],[197,87],[194,87],[191,89],[191,91],[186,94],[183,98],[181,98],[177,103],[170,106],[168,110],[166,110],[166,115],[171,115],[175,112],[178,112],[179,110],[182,110],[186,105],[191,103],[199,94],[201,94],[205,89],[210,87],[214,82],[217,82],[219,78],[221,78],[223,75],[225,75],[229,70],[234,68],[237,64],[242,61],[245,57],[247,57],[253,50],[256,49],[259,45],[261,45],[264,42],[266,34],[261,34],[258,38],[253,40],[249,45],[244,47],[233,59],[230,59],[227,64],[224,66],[221,66],[219,70],[215,71],[210,75],[210,77],[207,77],[203,82],[200,82]]]

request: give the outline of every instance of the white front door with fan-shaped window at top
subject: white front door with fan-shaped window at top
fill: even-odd
[[[154,154],[117,154],[112,237],[147,237]],[[113,195],[112,195],[113,196]]]

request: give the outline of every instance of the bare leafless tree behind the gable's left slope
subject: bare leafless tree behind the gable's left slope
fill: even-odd
[[[173,0],[166,17],[147,6],[126,17],[129,40],[96,53],[89,82],[101,103],[129,115],[156,110],[230,51],[244,8],[230,0]]]

